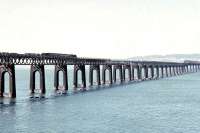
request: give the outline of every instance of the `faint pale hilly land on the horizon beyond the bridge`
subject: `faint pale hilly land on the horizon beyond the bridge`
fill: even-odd
[[[169,55],[149,55],[128,58],[129,60],[141,61],[172,61],[184,62],[185,60],[200,61],[200,54],[169,54]]]

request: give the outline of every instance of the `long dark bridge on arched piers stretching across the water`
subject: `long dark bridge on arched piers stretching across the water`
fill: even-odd
[[[114,84],[117,81],[144,81],[182,75],[200,70],[200,62],[161,62],[161,61],[134,61],[134,60],[111,60],[97,58],[80,58],[71,54],[59,53],[0,53],[0,97],[5,93],[5,73],[9,74],[9,97],[16,98],[15,65],[30,65],[30,92],[35,93],[35,73],[40,74],[40,94],[46,93],[45,87],[45,65],[54,65],[54,88],[56,91],[68,91],[67,66],[74,66],[73,86],[79,88],[78,71],[81,71],[81,88],[86,85],[86,65],[89,65],[89,85],[101,86]],[[59,87],[59,72],[63,72],[63,88]],[[94,71],[96,81],[94,82]],[[108,73],[106,73],[108,71]],[[127,71],[127,72],[126,72]],[[108,79],[107,79],[108,77]]]

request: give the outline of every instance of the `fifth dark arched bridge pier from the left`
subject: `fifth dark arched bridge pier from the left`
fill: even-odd
[[[93,85],[93,72],[94,71],[96,71],[97,85],[101,85],[100,66],[99,65],[90,65],[90,70],[89,70],[89,82],[90,82],[90,86]]]

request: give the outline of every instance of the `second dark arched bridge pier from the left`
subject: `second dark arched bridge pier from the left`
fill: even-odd
[[[46,88],[45,88],[45,71],[44,71],[44,65],[43,64],[33,64],[31,65],[30,70],[30,90],[31,94],[35,93],[35,73],[39,72],[40,74],[40,91],[41,94],[45,94]]]

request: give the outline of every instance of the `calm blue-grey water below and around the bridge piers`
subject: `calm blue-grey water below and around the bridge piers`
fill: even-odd
[[[46,98],[30,100],[29,69],[16,70],[17,99],[0,105],[0,133],[200,132],[200,73],[69,96],[53,95],[51,68],[46,76]]]

